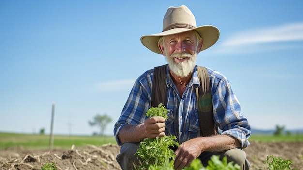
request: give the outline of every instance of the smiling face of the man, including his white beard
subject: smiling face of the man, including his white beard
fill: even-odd
[[[194,69],[197,54],[202,47],[195,31],[167,35],[159,44],[161,53],[166,57],[169,68],[180,77],[187,77]]]

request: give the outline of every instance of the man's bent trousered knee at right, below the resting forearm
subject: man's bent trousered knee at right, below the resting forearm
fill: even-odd
[[[227,157],[227,162],[233,162],[240,165],[241,170],[248,170],[250,167],[250,163],[247,160],[246,153],[242,149],[230,149],[224,153],[224,156]]]

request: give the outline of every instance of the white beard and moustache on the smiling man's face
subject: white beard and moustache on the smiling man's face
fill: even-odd
[[[194,71],[194,67],[196,66],[197,61],[197,53],[195,53],[194,55],[188,53],[173,53],[170,56],[167,56],[167,54],[165,56],[169,65],[169,69],[177,76],[187,77],[190,73]],[[174,61],[175,57],[188,57],[189,59],[186,62],[176,63]]]

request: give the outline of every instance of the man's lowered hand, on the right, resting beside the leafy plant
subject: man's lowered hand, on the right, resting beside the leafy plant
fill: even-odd
[[[182,143],[175,151],[176,159],[174,167],[176,170],[181,170],[184,167],[189,167],[190,164],[203,152],[198,138],[188,140]],[[200,139],[201,140],[201,139]]]

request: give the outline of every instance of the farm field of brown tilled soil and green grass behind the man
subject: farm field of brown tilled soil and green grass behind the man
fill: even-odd
[[[269,155],[292,160],[292,169],[303,170],[303,135],[253,135],[245,149],[250,170],[267,170]],[[0,170],[40,170],[55,162],[58,170],[121,170],[115,160],[120,147],[113,136],[54,136],[0,132]],[[1,169],[2,168],[2,169]]]

